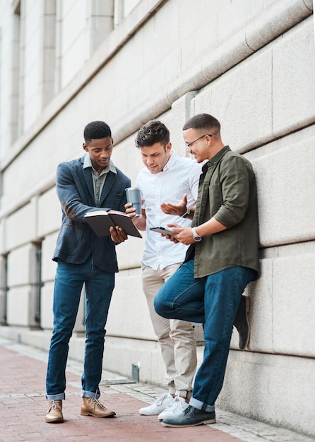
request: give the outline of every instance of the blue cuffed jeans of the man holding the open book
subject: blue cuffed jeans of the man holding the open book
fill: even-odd
[[[99,398],[102,377],[105,324],[114,273],[95,267],[90,256],[83,264],[59,261],[54,282],[54,329],[47,366],[47,400],[62,400],[66,390],[66,362],[69,340],[76,322],[81,290],[85,284],[85,355],[81,396]]]

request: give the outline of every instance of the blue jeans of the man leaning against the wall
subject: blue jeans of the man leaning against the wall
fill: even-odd
[[[215,410],[222,388],[234,317],[246,285],[256,272],[241,266],[194,278],[194,259],[170,277],[157,292],[154,306],[164,318],[203,323],[205,349],[196,373],[189,404],[198,410]]]

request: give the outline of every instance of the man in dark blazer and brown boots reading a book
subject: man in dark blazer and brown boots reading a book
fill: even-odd
[[[82,375],[81,414],[112,417],[100,402],[105,325],[114,274],[118,272],[115,246],[127,237],[120,227],[111,227],[110,237],[97,237],[84,215],[100,208],[124,211],[126,187],[131,180],[110,159],[112,133],[103,121],[84,129],[85,155],[62,162],[57,168],[57,195],[62,224],[54,251],[57,261],[54,282],[54,329],[47,366],[47,414],[45,422],[64,422],[62,400],[66,390],[69,340],[76,322],[81,290],[85,285],[85,356]]]

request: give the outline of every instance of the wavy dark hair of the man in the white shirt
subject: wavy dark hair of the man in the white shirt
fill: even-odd
[[[143,124],[136,135],[136,147],[143,148],[155,143],[170,143],[170,131],[159,120],[150,120]]]

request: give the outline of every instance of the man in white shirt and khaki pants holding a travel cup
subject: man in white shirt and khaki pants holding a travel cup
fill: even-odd
[[[162,420],[174,417],[188,407],[197,365],[196,339],[190,322],[165,319],[155,313],[155,294],[182,264],[187,246],[174,244],[150,228],[166,227],[173,222],[183,227],[191,225],[191,206],[195,205],[198,196],[202,165],[191,158],[179,157],[172,150],[169,130],[157,120],[141,126],[136,136],[136,147],[141,151],[145,165],[136,180],[136,187],[141,189],[144,199],[142,216],[133,215],[134,208],[131,208],[130,203],[125,208],[136,227],[145,230],[145,249],[141,263],[143,292],[160,342],[168,388],[168,393],[139,412],[145,415],[158,414]],[[166,201],[176,204],[181,215],[165,214],[161,205]],[[178,201],[181,201],[180,205]]]

